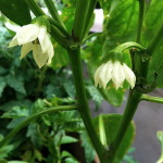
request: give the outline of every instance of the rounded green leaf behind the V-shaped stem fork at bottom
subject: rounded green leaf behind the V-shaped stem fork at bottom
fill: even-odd
[[[102,114],[95,118],[96,129],[98,134],[100,135],[100,138],[103,138],[102,135],[105,135],[108,147],[113,141],[113,138],[115,136],[116,129],[118,127],[118,124],[122,117],[123,116],[120,114],[105,114],[105,115]],[[101,127],[100,118],[102,118],[103,128],[100,128]],[[125,134],[123,142],[121,143],[121,147],[118,149],[118,152],[116,155],[116,162],[121,162],[123,156],[126,154],[127,150],[130,148],[134,137],[135,137],[135,125],[131,122],[131,124],[129,125]]]

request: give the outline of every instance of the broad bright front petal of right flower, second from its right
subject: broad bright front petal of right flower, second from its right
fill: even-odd
[[[116,89],[122,87],[125,80],[124,70],[123,70],[122,64],[118,61],[115,61],[113,63],[112,80]]]

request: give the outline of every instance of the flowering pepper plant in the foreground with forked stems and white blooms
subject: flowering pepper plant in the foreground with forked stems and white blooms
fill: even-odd
[[[33,50],[39,68],[50,63],[53,65],[55,55],[59,61],[63,58],[67,60],[64,53],[55,51],[57,43],[61,49],[66,50],[74,76],[76,102],[73,105],[59,105],[29,116],[14,128],[0,146],[4,146],[22,127],[38,116],[76,110],[100,162],[118,163],[133,141],[135,127],[131,120],[139,102],[146,100],[163,103],[162,98],[147,95],[156,87],[163,87],[161,57],[163,2],[160,0],[43,1],[50,16],[41,10],[39,1],[0,0],[1,12],[22,26],[10,47],[23,45],[21,59]],[[89,34],[97,2],[103,9],[103,32]],[[66,13],[64,16],[59,15],[57,10],[59,4],[62,4],[62,12]],[[36,16],[33,21],[30,11]],[[51,40],[55,41],[53,48]],[[123,115],[99,115],[92,120],[83,74],[83,60],[87,61],[90,78],[93,79],[95,76],[96,86],[100,87],[97,88],[98,91],[111,104],[120,105],[124,92],[129,89]]]

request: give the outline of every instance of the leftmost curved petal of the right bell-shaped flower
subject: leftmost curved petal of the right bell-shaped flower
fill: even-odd
[[[103,66],[104,66],[104,64],[100,65],[97,68],[96,73],[95,73],[93,78],[95,78],[95,85],[96,85],[96,87],[98,87],[98,85],[99,85],[100,88],[103,87],[101,78],[100,78],[100,73],[101,73],[101,70],[103,68]]]

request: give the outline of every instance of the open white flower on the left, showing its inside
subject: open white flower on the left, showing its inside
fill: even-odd
[[[40,26],[38,24],[22,26],[10,42],[9,48],[22,45],[23,47],[20,59],[23,59],[33,50],[34,60],[39,68],[46,63],[51,63],[54,50],[46,26]]]

